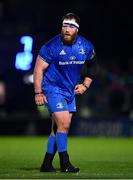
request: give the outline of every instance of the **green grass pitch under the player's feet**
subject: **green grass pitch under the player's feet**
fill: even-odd
[[[0,179],[132,179],[133,138],[69,137],[71,161],[80,173],[40,173],[47,137],[0,137]]]

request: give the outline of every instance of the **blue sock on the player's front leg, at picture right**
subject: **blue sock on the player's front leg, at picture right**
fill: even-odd
[[[67,151],[67,133],[56,133],[56,144],[58,152]]]

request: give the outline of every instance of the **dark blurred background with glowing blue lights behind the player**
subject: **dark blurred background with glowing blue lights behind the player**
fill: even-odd
[[[47,135],[51,122],[34,102],[33,69],[41,46],[60,33],[68,12],[95,46],[96,80],[77,97],[71,135],[133,136],[131,1],[0,0],[0,135]]]

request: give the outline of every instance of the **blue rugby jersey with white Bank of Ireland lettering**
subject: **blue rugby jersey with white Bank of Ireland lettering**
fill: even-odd
[[[91,42],[79,35],[72,45],[63,44],[60,34],[44,44],[39,51],[39,56],[49,64],[42,82],[44,93],[60,94],[71,101],[81,68],[85,61],[91,61],[93,50]]]

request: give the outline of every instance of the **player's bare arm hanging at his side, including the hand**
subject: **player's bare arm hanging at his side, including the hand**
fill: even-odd
[[[48,63],[45,62],[41,56],[37,56],[36,64],[33,73],[35,102],[37,105],[43,105],[47,103],[46,96],[42,92],[43,73],[48,68]]]

